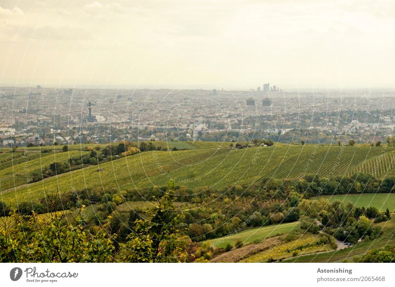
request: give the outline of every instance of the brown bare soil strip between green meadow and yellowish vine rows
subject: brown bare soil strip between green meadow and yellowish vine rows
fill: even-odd
[[[281,236],[275,236],[265,239],[258,244],[251,243],[240,248],[234,248],[231,251],[217,255],[216,257],[212,258],[210,262],[237,262],[247,256],[251,256],[252,254],[264,251],[273,246],[276,246],[277,244],[280,244],[280,238]]]

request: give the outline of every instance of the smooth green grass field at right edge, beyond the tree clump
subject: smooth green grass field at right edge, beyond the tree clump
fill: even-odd
[[[377,194],[342,194],[332,196],[321,196],[312,199],[326,198],[329,202],[340,200],[343,204],[352,202],[356,207],[374,206],[381,211],[387,208],[390,211],[395,210],[395,193],[377,193]]]

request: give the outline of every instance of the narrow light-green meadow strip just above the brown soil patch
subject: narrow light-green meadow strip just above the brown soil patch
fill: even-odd
[[[241,240],[243,244],[253,243],[255,241],[262,241],[266,238],[273,237],[276,235],[288,233],[294,229],[299,228],[299,222],[282,223],[276,225],[269,225],[264,227],[257,227],[239,232],[235,235],[225,236],[210,240],[211,246],[214,248],[225,247],[228,244],[235,246],[238,240]]]

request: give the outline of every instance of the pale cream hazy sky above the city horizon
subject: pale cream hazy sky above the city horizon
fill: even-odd
[[[0,1],[0,86],[395,87],[394,0]]]

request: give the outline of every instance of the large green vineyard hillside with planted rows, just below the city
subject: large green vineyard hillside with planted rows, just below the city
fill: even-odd
[[[5,202],[16,199],[27,201],[42,198],[44,188],[49,193],[58,189],[60,192],[68,192],[92,188],[115,188],[122,191],[164,186],[170,179],[176,185],[189,188],[209,186],[222,189],[229,185],[251,184],[263,177],[297,178],[308,173],[345,175],[350,168],[363,164],[366,159],[394,150],[383,147],[313,145],[232,150],[229,147],[222,148],[224,143],[167,143],[195,144],[196,149],[143,152],[60,174],[43,182],[20,186],[12,192],[2,188],[1,196]],[[24,169],[23,162],[12,166],[15,173],[21,173]],[[103,171],[98,172],[98,168]]]

